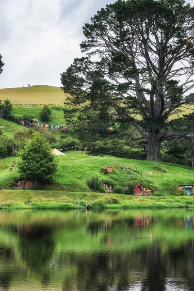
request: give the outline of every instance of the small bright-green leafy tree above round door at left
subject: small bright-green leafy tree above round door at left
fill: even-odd
[[[28,143],[19,152],[18,162],[20,178],[37,181],[52,181],[57,171],[57,157],[51,153],[49,143],[39,132],[35,132]]]

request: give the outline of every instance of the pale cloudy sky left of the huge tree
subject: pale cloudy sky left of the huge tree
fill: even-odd
[[[60,86],[60,74],[81,56],[82,26],[114,0],[1,0],[0,88]]]

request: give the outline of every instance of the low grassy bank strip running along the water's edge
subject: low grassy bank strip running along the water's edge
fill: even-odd
[[[0,209],[165,209],[194,208],[194,196],[129,196],[124,194],[69,193],[58,191],[0,191]]]

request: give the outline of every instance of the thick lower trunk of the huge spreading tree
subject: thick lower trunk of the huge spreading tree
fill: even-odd
[[[160,161],[161,158],[161,142],[159,130],[147,130],[148,133],[148,147],[147,160]]]

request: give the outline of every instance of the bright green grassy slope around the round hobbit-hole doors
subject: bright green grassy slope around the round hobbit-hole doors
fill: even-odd
[[[180,185],[194,184],[194,169],[191,167],[161,163],[167,173],[158,175],[146,175],[152,172],[156,162],[136,161],[120,159],[112,156],[94,157],[84,156],[83,152],[67,151],[67,156],[60,157],[59,171],[55,174],[54,183],[44,186],[44,190],[58,190],[69,192],[90,192],[87,181],[94,176],[104,182],[112,183],[114,186],[125,188],[128,182],[139,182],[145,184],[155,191],[156,195],[177,195],[177,187]],[[16,172],[9,172],[13,160],[19,158],[6,158],[0,163],[0,187],[9,189],[9,180],[16,178]],[[113,174],[103,174],[101,167],[113,165]],[[142,177],[141,177],[142,175]]]

